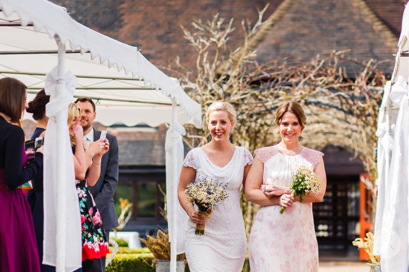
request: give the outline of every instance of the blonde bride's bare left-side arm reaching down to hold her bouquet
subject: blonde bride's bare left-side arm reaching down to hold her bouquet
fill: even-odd
[[[177,187],[177,197],[179,199],[180,206],[189,215],[192,222],[196,224],[205,224],[205,219],[197,216],[196,210],[193,204],[188,202],[188,197],[185,194],[185,188],[191,183],[196,177],[196,170],[193,167],[182,166],[180,172],[179,186]]]

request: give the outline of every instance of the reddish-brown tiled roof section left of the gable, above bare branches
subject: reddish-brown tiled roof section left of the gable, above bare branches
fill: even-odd
[[[202,1],[134,1],[134,0],[53,0],[66,7],[72,17],[109,37],[138,46],[142,54],[157,66],[168,66],[176,56],[192,71],[196,52],[184,39],[180,26],[192,30],[194,20],[211,20],[216,13],[228,23],[234,18],[236,28],[228,45],[235,49],[243,41],[242,20],[253,24],[257,9],[270,3],[271,13],[282,0],[202,0]],[[108,12],[111,10],[112,12]],[[268,16],[268,15],[267,15]],[[234,46],[233,46],[234,45]]]

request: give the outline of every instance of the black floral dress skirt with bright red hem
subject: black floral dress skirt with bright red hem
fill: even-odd
[[[109,253],[108,242],[94,197],[85,180],[76,186],[81,214],[82,260],[105,257]]]

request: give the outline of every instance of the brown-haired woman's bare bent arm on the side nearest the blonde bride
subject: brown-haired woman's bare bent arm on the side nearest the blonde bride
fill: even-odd
[[[260,190],[263,183],[264,163],[258,159],[258,156],[253,161],[252,167],[248,171],[244,192],[248,201],[261,206],[280,205],[279,196],[267,196]]]

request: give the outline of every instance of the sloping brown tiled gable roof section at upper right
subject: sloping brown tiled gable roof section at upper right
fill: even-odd
[[[392,72],[397,37],[361,0],[286,0],[271,18],[276,21],[257,46],[259,62],[282,57],[309,60],[332,50],[350,50],[357,60],[389,60]],[[401,15],[400,15],[401,16]],[[277,17],[279,19],[277,20]]]

